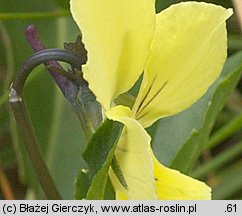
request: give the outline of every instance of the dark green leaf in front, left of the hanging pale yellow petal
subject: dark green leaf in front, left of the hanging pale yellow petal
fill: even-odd
[[[122,124],[106,120],[93,134],[83,153],[88,164],[76,182],[76,198],[103,199],[114,151],[122,129]]]

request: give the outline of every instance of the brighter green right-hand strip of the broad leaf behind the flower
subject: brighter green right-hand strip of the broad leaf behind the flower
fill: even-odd
[[[240,80],[242,70],[242,53],[228,59],[222,72],[222,77],[218,80],[218,85],[213,86],[214,92],[208,101],[208,108],[204,115],[202,126],[198,131],[194,131],[183,148],[180,150],[172,167],[183,172],[188,172],[199,157],[201,151],[208,142],[209,134],[212,130],[218,113],[223,108],[228,97]],[[186,160],[184,160],[186,158]],[[181,164],[183,163],[183,164]]]

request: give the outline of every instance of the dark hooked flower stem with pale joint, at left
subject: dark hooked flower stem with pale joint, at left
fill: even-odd
[[[31,163],[46,197],[48,199],[61,199],[55,187],[54,181],[49,173],[48,167],[41,156],[35,133],[21,96],[24,85],[31,71],[37,65],[53,60],[67,62],[74,68],[78,69],[81,65],[79,58],[64,50],[49,49],[35,53],[28,58],[17,71],[15,80],[11,86],[9,101],[11,103],[15,119],[19,124],[25,148],[28,152]]]

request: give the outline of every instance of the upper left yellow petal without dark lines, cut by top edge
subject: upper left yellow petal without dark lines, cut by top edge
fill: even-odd
[[[71,0],[88,52],[84,77],[107,110],[144,70],[155,29],[154,0]]]

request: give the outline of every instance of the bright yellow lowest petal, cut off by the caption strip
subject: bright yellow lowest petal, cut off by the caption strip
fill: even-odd
[[[161,200],[210,200],[211,188],[205,183],[169,169],[153,156],[158,198]]]

